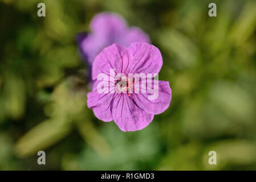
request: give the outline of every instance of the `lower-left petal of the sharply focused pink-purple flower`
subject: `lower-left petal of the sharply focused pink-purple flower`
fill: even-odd
[[[87,94],[87,106],[94,111],[98,119],[105,122],[112,121],[111,105],[116,93],[98,93],[99,82],[95,81],[93,90]]]

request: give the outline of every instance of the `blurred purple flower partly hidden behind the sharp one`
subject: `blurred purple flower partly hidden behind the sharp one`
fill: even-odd
[[[96,55],[113,43],[129,46],[133,42],[150,43],[149,36],[138,27],[128,27],[127,22],[118,14],[99,13],[90,23],[91,33],[76,37],[80,50],[89,65]]]

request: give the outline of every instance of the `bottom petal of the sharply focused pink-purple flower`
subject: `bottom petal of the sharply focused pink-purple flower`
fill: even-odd
[[[120,93],[113,101],[113,120],[122,131],[137,131],[144,129],[154,118],[154,114],[140,109],[127,94]]]

